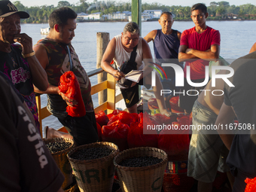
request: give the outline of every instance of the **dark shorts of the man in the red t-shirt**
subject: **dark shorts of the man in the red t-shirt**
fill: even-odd
[[[193,80],[194,83],[202,83],[205,79],[197,79],[197,80]],[[181,87],[181,90],[179,92],[183,92],[184,90],[184,94],[183,93],[180,93],[179,94],[179,102],[180,102],[180,107],[185,109],[187,112],[190,112],[192,111],[192,108],[193,108],[193,105],[194,105],[194,102],[197,100],[198,96],[189,96],[187,95],[187,90],[197,90],[199,93],[200,93],[200,90],[203,90],[204,87],[206,86],[203,86],[203,87],[193,87],[191,86],[190,84],[187,84],[187,79],[184,78],[184,87]],[[189,92],[189,94],[191,95],[196,95],[196,93],[193,91],[193,92]]]

